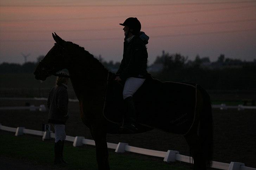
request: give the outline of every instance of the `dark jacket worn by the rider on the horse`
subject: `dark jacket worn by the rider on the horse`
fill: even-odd
[[[134,36],[130,42],[124,40],[123,59],[116,73],[121,80],[125,81],[129,77],[145,78],[148,59],[146,44],[139,36]]]

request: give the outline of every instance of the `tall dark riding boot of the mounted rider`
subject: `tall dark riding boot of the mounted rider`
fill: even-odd
[[[136,132],[138,129],[135,127],[136,124],[136,110],[133,102],[133,97],[127,97],[124,99],[124,105],[126,108],[126,118],[124,119],[123,126],[121,129],[130,133]]]

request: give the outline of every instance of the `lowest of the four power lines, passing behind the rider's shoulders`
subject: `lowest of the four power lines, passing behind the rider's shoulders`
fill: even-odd
[[[155,35],[155,36],[151,36],[151,38],[167,38],[167,37],[179,37],[179,36],[227,34],[227,33],[238,33],[238,32],[255,31],[255,29],[256,28],[253,28],[253,29],[228,30],[228,31],[204,32],[204,33]],[[72,41],[106,41],[106,40],[123,40],[123,38],[72,39]],[[47,40],[1,40],[1,42],[51,42],[51,41],[53,41],[53,40],[52,39],[47,39]]]

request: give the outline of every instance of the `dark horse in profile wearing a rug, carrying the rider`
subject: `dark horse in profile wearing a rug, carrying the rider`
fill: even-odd
[[[119,131],[122,114],[111,116],[109,113],[120,111],[121,107],[117,106],[122,105],[122,99],[119,100],[122,86],[114,81],[115,74],[104,68],[83,47],[64,41],[56,33],[52,36],[56,43],[39,62],[35,78],[46,80],[59,70],[68,69],[79,100],[82,121],[90,129],[96,144],[98,169],[109,169],[106,134],[122,133]],[[155,128],[183,134],[192,152],[194,169],[211,166],[211,102],[203,88],[191,83],[160,82],[148,75],[145,85],[135,93],[134,100],[139,112],[138,132]]]

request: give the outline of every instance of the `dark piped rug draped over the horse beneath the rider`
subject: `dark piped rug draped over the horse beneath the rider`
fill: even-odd
[[[103,115],[121,125],[124,118],[123,85],[109,81]],[[133,96],[138,132],[147,128],[186,134],[195,118],[196,84],[161,82],[147,74],[145,82]]]

